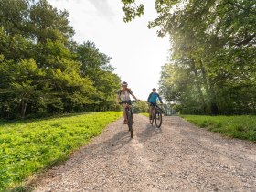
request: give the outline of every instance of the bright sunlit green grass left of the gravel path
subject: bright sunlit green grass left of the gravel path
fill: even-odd
[[[0,191],[20,186],[33,173],[63,162],[121,116],[121,112],[91,112],[41,120],[0,120]]]

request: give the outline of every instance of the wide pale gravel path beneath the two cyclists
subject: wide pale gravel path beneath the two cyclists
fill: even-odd
[[[256,144],[165,117],[134,115],[134,138],[111,123],[69,161],[38,176],[34,191],[256,191]]]

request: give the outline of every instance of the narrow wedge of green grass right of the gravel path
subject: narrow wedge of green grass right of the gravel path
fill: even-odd
[[[211,132],[239,138],[243,140],[256,141],[256,116],[200,116],[181,115],[188,122],[199,127],[207,128]]]

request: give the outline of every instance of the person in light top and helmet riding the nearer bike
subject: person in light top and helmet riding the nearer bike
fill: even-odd
[[[131,99],[130,99],[130,95],[132,95],[133,98],[136,101],[138,101],[138,99],[133,95],[133,91],[131,91],[131,89],[128,88],[127,86],[128,86],[128,83],[123,81],[122,89],[120,91],[118,91],[117,98],[116,98],[116,103],[119,104],[119,101],[121,100],[122,105],[123,105],[123,118],[124,118],[123,124],[128,123],[126,112],[125,112],[125,106],[126,106],[126,103],[128,103],[130,105],[132,104]]]

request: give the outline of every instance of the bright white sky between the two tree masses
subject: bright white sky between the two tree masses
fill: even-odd
[[[121,0],[48,0],[60,10],[69,11],[70,25],[79,43],[90,40],[110,56],[114,73],[128,82],[134,95],[146,100],[158,88],[161,66],[168,58],[170,44],[147,24],[156,18],[155,1],[141,0],[144,16],[123,22]]]

